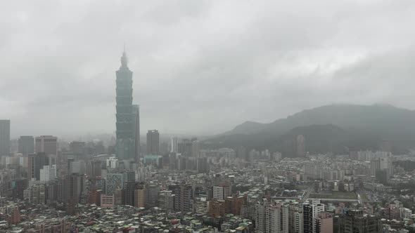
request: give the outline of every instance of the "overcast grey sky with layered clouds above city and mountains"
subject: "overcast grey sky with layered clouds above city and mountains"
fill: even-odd
[[[115,131],[126,44],[141,133],[222,133],[332,103],[415,109],[415,1],[1,1],[12,136]]]

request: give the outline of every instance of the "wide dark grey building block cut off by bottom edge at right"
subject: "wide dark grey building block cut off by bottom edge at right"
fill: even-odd
[[[338,216],[338,232],[382,232],[382,222],[374,215],[364,215],[360,210],[348,210]]]

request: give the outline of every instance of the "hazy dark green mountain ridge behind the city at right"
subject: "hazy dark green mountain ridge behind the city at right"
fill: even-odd
[[[300,134],[314,153],[377,149],[383,140],[404,152],[415,145],[415,112],[390,105],[326,105],[269,124],[247,121],[208,142],[282,151],[287,135]]]

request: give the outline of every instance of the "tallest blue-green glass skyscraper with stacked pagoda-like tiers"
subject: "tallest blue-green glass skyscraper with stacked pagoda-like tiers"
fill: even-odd
[[[127,55],[122,53],[121,67],[116,72],[116,136],[115,154],[118,159],[136,159],[134,112],[132,105],[132,71]]]

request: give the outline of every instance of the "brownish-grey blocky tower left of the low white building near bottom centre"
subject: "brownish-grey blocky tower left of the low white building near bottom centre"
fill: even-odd
[[[193,187],[191,185],[169,185],[169,190],[174,194],[174,211],[193,211]]]

